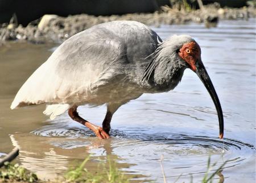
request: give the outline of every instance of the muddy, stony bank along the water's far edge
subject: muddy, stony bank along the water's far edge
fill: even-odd
[[[241,9],[222,9],[218,4],[204,7],[204,10],[178,11],[170,7],[162,7],[161,11],[153,14],[126,14],[112,16],[72,15],[61,17],[44,15],[23,27],[16,23],[15,17],[9,24],[2,24],[0,28],[0,43],[8,40],[27,40],[32,43],[57,42],[61,43],[77,32],[85,30],[99,23],[113,20],[136,20],[148,26],[161,24],[217,23],[219,19],[248,19],[255,18],[254,7]]]

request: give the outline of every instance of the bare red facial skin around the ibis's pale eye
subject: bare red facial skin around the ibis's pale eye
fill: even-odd
[[[196,61],[200,60],[201,49],[196,41],[183,44],[180,48],[179,56],[185,60],[189,65],[191,70],[196,71]]]

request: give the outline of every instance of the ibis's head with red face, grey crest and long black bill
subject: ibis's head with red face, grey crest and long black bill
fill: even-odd
[[[203,82],[205,88],[207,88],[210,97],[212,97],[218,113],[218,121],[220,126],[219,138],[222,139],[224,135],[224,119],[222,109],[218,95],[201,60],[201,48],[199,44],[197,44],[196,41],[191,38],[191,36],[187,35],[175,35],[172,36],[169,41],[169,44],[172,45],[172,52],[176,52],[175,56],[179,57],[179,62],[183,63],[187,68],[190,68],[197,74],[197,76]]]

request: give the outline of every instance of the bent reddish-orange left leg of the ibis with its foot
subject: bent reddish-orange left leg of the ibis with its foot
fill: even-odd
[[[87,120],[81,118],[77,113],[77,106],[73,106],[71,109],[68,110],[68,115],[76,122],[84,124],[84,126],[88,127],[90,130],[94,131],[96,136],[100,139],[108,139],[109,135],[99,126],[96,126]]]

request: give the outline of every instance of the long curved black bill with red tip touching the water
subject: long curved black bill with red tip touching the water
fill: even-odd
[[[210,97],[212,97],[212,100],[214,102],[214,105],[216,107],[217,113],[218,113],[218,124],[220,126],[220,136],[219,138],[222,139],[224,135],[224,120],[223,120],[223,114],[222,109],[220,105],[220,101],[218,99],[218,95],[214,89],[214,86],[212,84],[212,81],[210,81],[210,77],[207,73],[207,70],[204,67],[203,62],[201,59],[197,60],[196,62],[196,74],[200,78],[200,80],[203,82],[205,88],[207,88]]]

